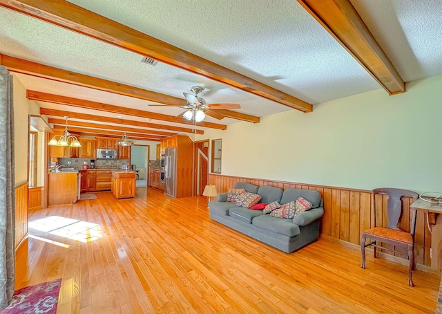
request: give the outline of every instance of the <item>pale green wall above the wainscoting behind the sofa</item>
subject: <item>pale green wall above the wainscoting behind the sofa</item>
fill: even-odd
[[[442,75],[238,122],[222,138],[222,174],[372,190],[442,192]]]

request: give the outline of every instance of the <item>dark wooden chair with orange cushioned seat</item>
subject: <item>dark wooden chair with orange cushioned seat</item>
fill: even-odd
[[[405,232],[398,228],[398,222],[402,214],[402,201],[403,196],[410,196],[416,201],[419,194],[416,192],[393,189],[393,188],[380,188],[373,190],[374,196],[376,194],[386,194],[388,195],[387,202],[387,216],[388,225],[387,227],[376,227],[376,202],[374,202],[374,225],[375,227],[369,230],[365,230],[361,236],[361,251],[362,251],[362,264],[361,267],[365,268],[365,247],[374,247],[374,257],[376,258],[376,248],[382,248],[384,250],[392,250],[401,254],[407,254],[410,261],[410,266],[408,267],[408,284],[414,286],[412,279],[412,271],[414,270],[414,228],[416,225],[416,210],[412,210],[412,225],[411,232]],[[369,239],[370,242],[365,244],[365,239]],[[383,248],[378,246],[377,242],[389,243],[396,248],[406,248],[407,253],[393,250],[390,248]]]

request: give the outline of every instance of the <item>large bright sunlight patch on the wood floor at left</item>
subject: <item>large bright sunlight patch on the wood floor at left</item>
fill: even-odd
[[[29,228],[84,243],[102,238],[102,230],[97,223],[88,223],[87,221],[61,216],[48,216],[30,221]]]

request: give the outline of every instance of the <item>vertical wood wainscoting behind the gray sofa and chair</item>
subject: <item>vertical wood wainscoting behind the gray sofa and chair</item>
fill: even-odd
[[[282,181],[268,181],[256,178],[241,178],[237,176],[222,176],[209,174],[209,184],[216,186],[218,193],[227,192],[238,181],[254,185],[271,185],[287,189],[288,187],[302,190],[316,190],[324,200],[324,216],[321,234],[334,237],[354,244],[360,244],[361,232],[374,227],[373,202],[376,201],[376,225],[383,225],[387,219],[387,196],[377,195],[373,198],[372,191],[352,190],[342,187],[326,187],[323,185],[305,185]],[[410,198],[403,198],[403,214],[399,228],[410,230],[411,209]],[[430,247],[431,233],[427,229],[425,215],[418,212],[415,232],[415,259],[419,264],[431,266]],[[387,246],[385,246],[387,248]],[[398,255],[389,250],[387,254]],[[405,257],[406,258],[406,257]]]

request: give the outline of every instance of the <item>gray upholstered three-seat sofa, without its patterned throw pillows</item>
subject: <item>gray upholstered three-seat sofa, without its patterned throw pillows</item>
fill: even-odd
[[[297,214],[294,219],[281,219],[263,214],[262,210],[249,210],[228,203],[227,193],[222,193],[218,194],[216,201],[209,202],[211,219],[287,253],[299,250],[319,238],[320,217],[324,214],[324,208],[318,192],[291,188],[282,191],[278,187],[258,187],[243,182],[236,183],[235,188],[259,194],[262,196],[260,203],[278,201],[283,205],[302,196],[312,204],[312,208]]]

